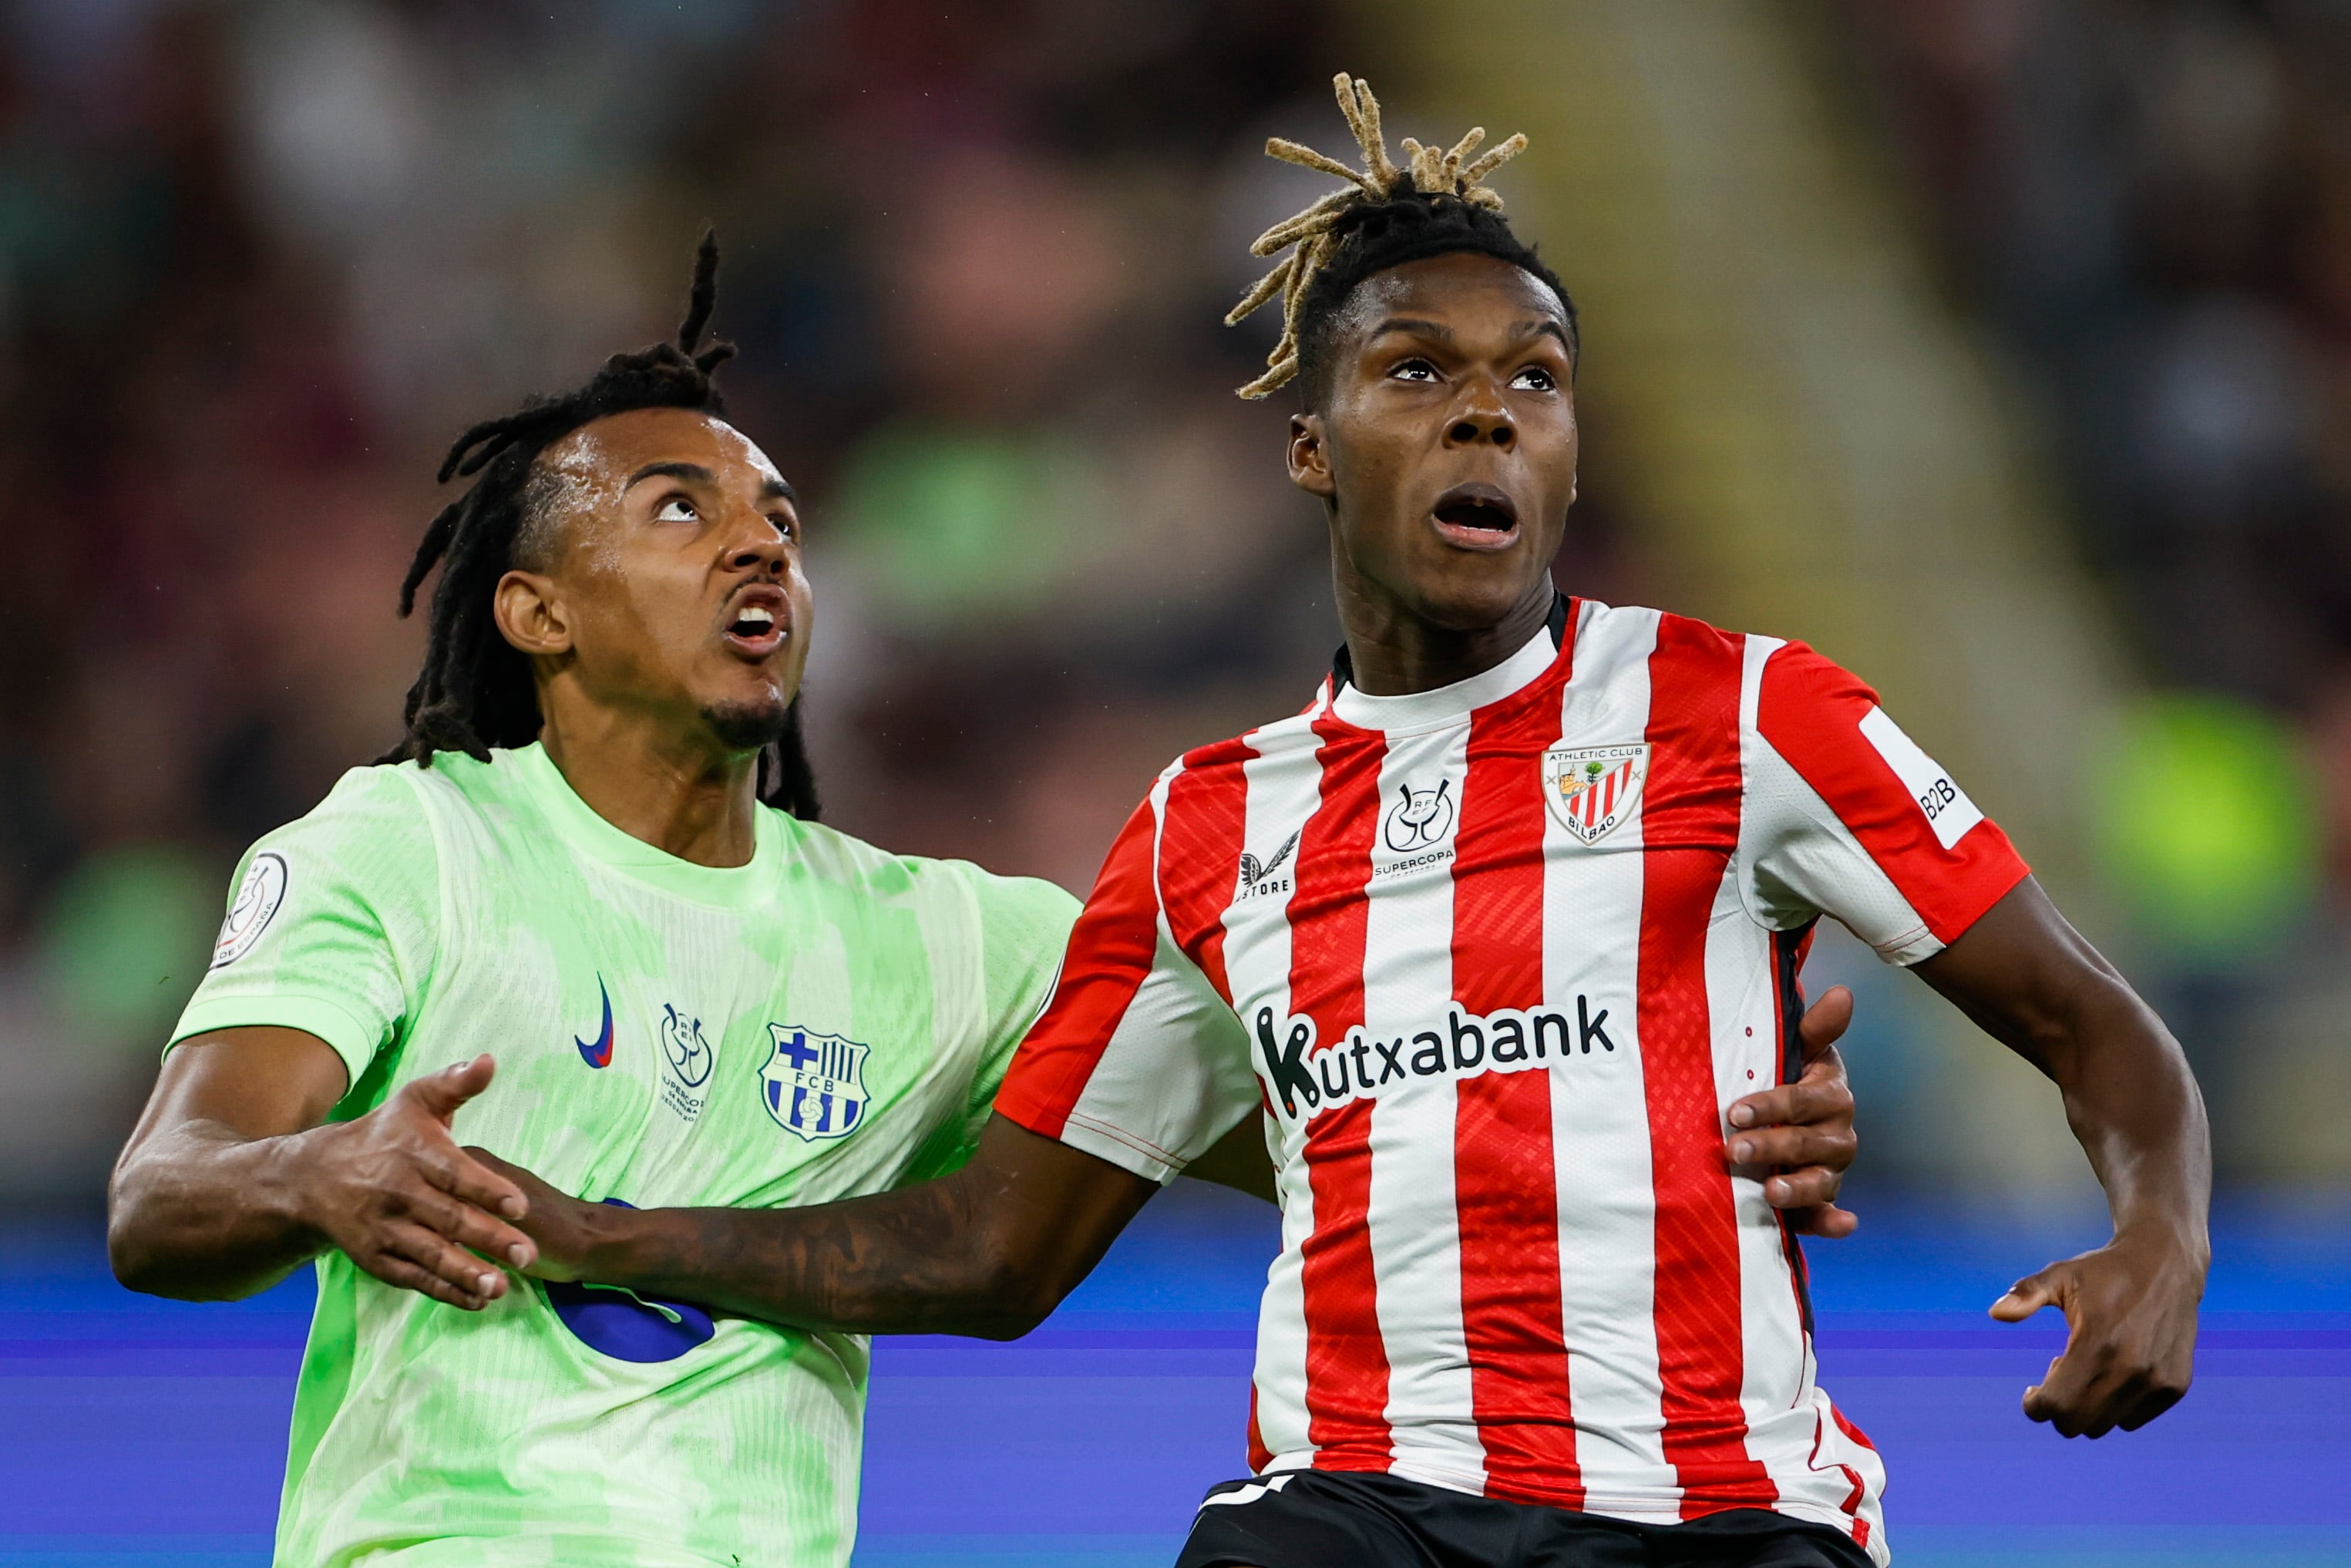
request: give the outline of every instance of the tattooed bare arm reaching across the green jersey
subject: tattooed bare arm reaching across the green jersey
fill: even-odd
[[[952,1175],[809,1208],[611,1208],[468,1152],[529,1194],[534,1274],[849,1333],[1016,1340],[1159,1192],[1004,1117]]]

